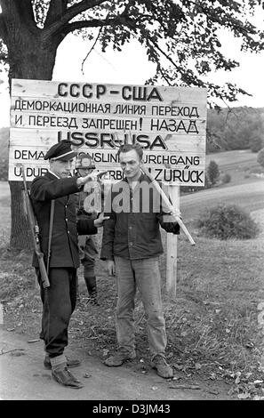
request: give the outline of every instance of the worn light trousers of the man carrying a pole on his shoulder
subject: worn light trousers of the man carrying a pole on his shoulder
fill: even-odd
[[[134,308],[139,289],[147,318],[150,355],[164,356],[167,343],[161,298],[161,277],[158,257],[126,260],[115,257],[116,263],[116,336],[120,349],[135,351]]]

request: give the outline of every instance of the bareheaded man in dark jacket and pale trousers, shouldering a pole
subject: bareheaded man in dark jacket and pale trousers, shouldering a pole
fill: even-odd
[[[116,274],[116,335],[118,350],[106,359],[107,366],[121,366],[136,357],[134,335],[134,298],[136,288],[147,317],[151,365],[164,378],[172,377],[172,367],[165,359],[166,333],[161,299],[158,256],[163,253],[161,226],[179,234],[179,224],[164,222],[159,193],[148,176],[141,173],[143,151],[139,144],[126,144],[118,150],[124,181],[108,193],[100,258],[107,261],[108,274]]]

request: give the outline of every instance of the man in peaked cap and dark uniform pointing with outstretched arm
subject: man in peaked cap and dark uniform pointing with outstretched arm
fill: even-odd
[[[70,145],[70,141],[60,141],[48,150],[44,159],[49,160],[50,169],[44,176],[36,177],[32,181],[30,197],[50,280],[50,287],[44,288],[34,253],[33,266],[36,268],[43,301],[41,335],[46,352],[44,366],[52,369],[53,378],[60,384],[79,389],[84,385],[68,371],[68,367],[78,366],[80,362],[69,360],[64,355],[64,349],[68,345],[68,324],[76,307],[78,233],[96,234],[97,228],[107,218],[101,213],[96,220],[76,221],[74,194],[87,181],[91,181],[91,175],[82,178],[69,177],[73,158],[76,157],[76,152]]]

